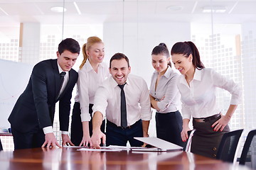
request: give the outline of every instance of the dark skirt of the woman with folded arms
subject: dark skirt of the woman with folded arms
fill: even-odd
[[[179,111],[156,113],[156,137],[184,147],[181,140],[182,117]]]

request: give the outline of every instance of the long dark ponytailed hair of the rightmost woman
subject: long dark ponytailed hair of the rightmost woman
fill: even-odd
[[[193,66],[196,67],[196,69],[203,69],[204,65],[203,62],[200,60],[200,55],[198,52],[198,49],[196,45],[191,41],[185,41],[185,42],[176,42],[174,46],[171,48],[171,55],[184,55],[185,57],[188,57],[189,55],[193,56]]]

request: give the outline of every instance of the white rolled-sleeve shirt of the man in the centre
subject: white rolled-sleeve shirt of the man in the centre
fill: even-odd
[[[139,119],[151,120],[149,89],[146,81],[141,77],[129,74],[127,84],[124,85],[124,94],[127,104],[127,125],[133,125]],[[100,111],[103,118],[121,126],[121,89],[112,78],[106,79],[95,94],[93,113]]]

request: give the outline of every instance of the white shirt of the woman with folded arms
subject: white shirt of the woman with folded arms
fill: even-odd
[[[156,87],[156,79],[158,74],[159,73],[155,71],[152,75],[149,92],[151,96],[159,100],[159,102],[157,102],[157,106],[160,110],[157,112],[169,113],[178,111],[178,105],[181,99],[181,95],[178,92],[178,87],[176,84],[178,74],[174,72],[171,67],[168,67],[164,75],[159,79]],[[161,101],[161,98],[163,97],[164,100]]]

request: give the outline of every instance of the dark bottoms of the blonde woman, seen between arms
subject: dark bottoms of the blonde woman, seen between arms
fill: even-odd
[[[93,104],[89,105],[89,113],[92,118],[92,106]],[[102,121],[102,125],[100,130],[105,133],[105,120]],[[89,122],[89,132],[90,136],[92,136],[92,119]],[[80,110],[80,103],[75,102],[73,107],[72,113],[72,121],[71,121],[71,142],[75,146],[79,146],[82,142],[82,120],[81,120],[81,110]]]

